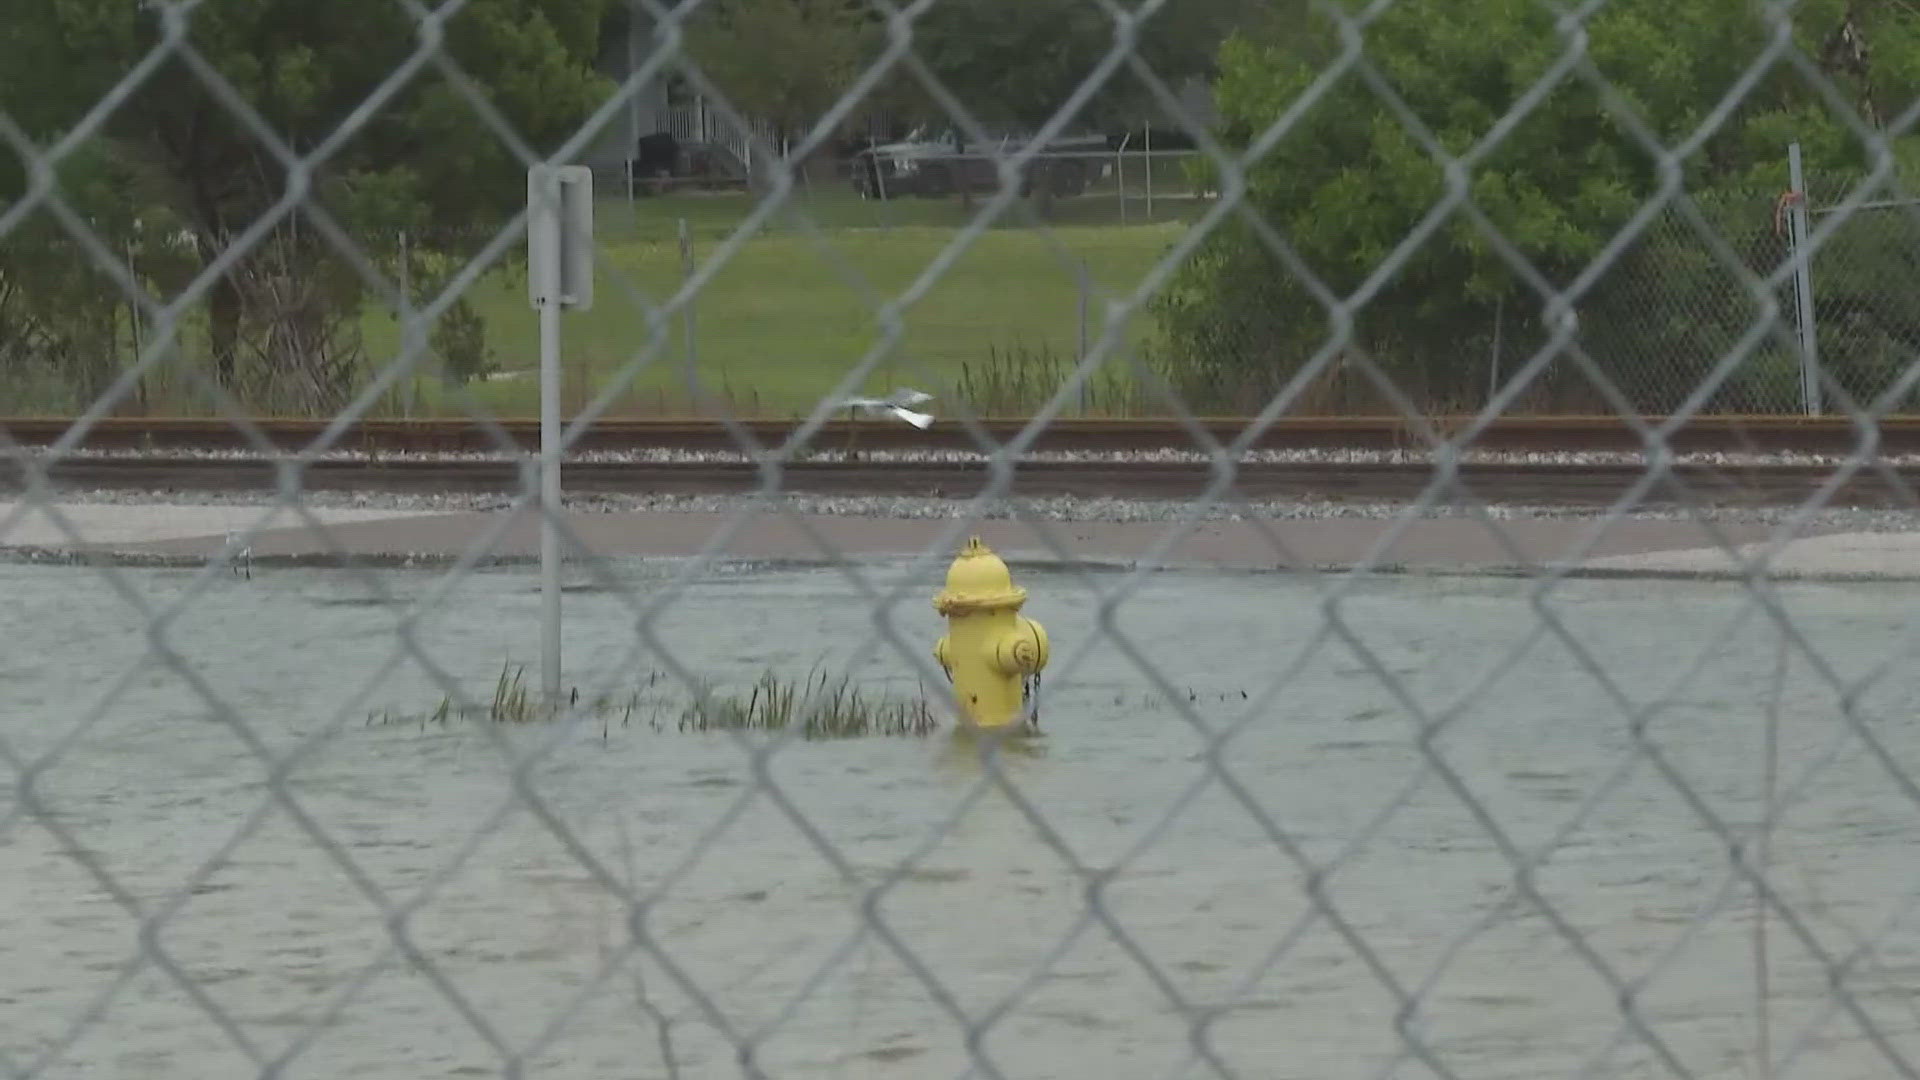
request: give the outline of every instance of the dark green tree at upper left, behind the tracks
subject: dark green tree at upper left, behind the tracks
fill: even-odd
[[[444,52],[545,154],[609,92],[591,67],[609,2],[470,0],[447,19]],[[29,4],[0,33],[0,102],[40,144],[56,140],[159,48],[159,19],[157,4],[129,0]],[[440,69],[415,71],[369,108],[419,42],[399,4],[252,0],[200,4],[190,19],[194,52],[290,152],[311,154],[351,125],[313,167],[309,200],[363,246],[407,227],[428,244],[474,250],[484,240],[476,231],[499,225],[524,198],[522,165]],[[200,267],[288,188],[269,142],[179,52],[115,108],[98,144],[123,202],[184,225]],[[0,173],[0,200],[6,183]],[[15,192],[17,183],[15,169]],[[236,384],[250,329],[267,342],[261,375],[271,382],[326,338],[321,325],[290,323],[338,321],[357,309],[359,279],[344,267],[323,273],[317,263],[340,263],[326,256],[315,229],[284,223],[213,282],[207,323],[219,382]],[[330,386],[323,396],[342,392]]]

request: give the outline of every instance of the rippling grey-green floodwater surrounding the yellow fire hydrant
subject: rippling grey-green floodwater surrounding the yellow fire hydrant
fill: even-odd
[[[824,663],[912,692],[937,571],[862,565],[876,605],[833,569],[620,565],[616,590],[566,596],[568,676],[672,671],[636,653],[647,609],[687,675]],[[369,724],[440,701],[419,661],[388,663],[405,619],[478,698],[536,661],[534,575],[436,596],[424,571],[213,573],[180,607],[200,577],[0,567],[0,740],[58,749],[31,786],[0,765],[0,1076],[1920,1061],[1920,803],[1895,776],[1920,771],[1912,586],[1782,586],[1782,667],[1738,584],[1565,582],[1536,607],[1523,580],[1377,578],[1334,625],[1306,577],[1154,573],[1102,617],[1129,577],[1023,571],[1054,667],[1046,736],[995,759],[1014,799],[947,734],[756,757],[670,721]],[[1578,651],[1526,644],[1542,607]],[[876,611],[914,659],[864,650]],[[1882,665],[1851,696],[1870,751],[1832,680]],[[1770,715],[1795,798],[1764,855],[1786,911],[1757,924],[1728,851],[1761,817]],[[1238,728],[1210,757],[1192,721]],[[536,749],[530,807],[509,757]],[[653,897],[659,949],[612,974],[609,884]]]

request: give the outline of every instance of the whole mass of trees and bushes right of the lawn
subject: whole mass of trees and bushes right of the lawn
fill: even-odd
[[[1290,0],[1288,0],[1290,2]],[[1317,6],[1250,33],[1221,52],[1215,85],[1229,144],[1248,146],[1288,115],[1340,54],[1338,25]],[[1325,379],[1309,388],[1344,411],[1380,411],[1386,400],[1356,371],[1369,357],[1419,407],[1478,407],[1490,382],[1548,342],[1542,296],[1526,284],[1467,213],[1402,252],[1448,194],[1444,158],[1478,154],[1467,177],[1473,206],[1551,284],[1574,284],[1607,259],[1576,298],[1580,344],[1594,363],[1645,411],[1678,407],[1761,315],[1741,273],[1766,277],[1782,265],[1776,196],[1788,190],[1788,146],[1801,142],[1816,198],[1837,202],[1868,167],[1866,144],[1820,90],[1776,63],[1743,88],[1740,108],[1705,127],[1684,163],[1697,200],[1726,252],[1668,211],[1617,252],[1615,236],[1659,194],[1661,175],[1644,125],[1661,146],[1682,146],[1715,102],[1768,48],[1774,19],[1791,17],[1795,44],[1868,125],[1905,110],[1920,92],[1920,10],[1903,4],[1805,0],[1788,8],[1728,0],[1611,0],[1580,17],[1584,56],[1619,90],[1605,100],[1582,77],[1553,65],[1569,46],[1553,6],[1509,0],[1407,0],[1367,23],[1367,61],[1400,94],[1388,104],[1357,77],[1338,79],[1250,175],[1250,202],[1292,244],[1332,296],[1361,286],[1371,300]],[[1536,85],[1553,86],[1532,96]],[[1415,133],[1402,111],[1425,125]],[[1628,121],[1624,108],[1634,111]],[[1511,117],[1511,127],[1496,129]],[[1889,131],[1901,175],[1920,173],[1920,142]],[[1891,192],[1882,192],[1891,194]],[[1897,240],[1874,244],[1882,231]],[[1855,394],[1885,386],[1880,356],[1920,348],[1899,302],[1914,286],[1907,215],[1860,215],[1836,240],[1849,250],[1820,259],[1820,315],[1859,311],[1853,336],[1822,329],[1822,361]],[[1728,254],[1730,252],[1730,254]],[[1398,269],[1373,281],[1386,263]],[[1862,294],[1862,286],[1882,300]],[[1791,313],[1791,306],[1786,306]],[[1210,238],[1160,300],[1165,359],[1188,404],[1248,411],[1294,379],[1332,336],[1315,284],[1242,223]],[[1797,402],[1791,329],[1709,398],[1711,409],[1784,409]],[[1832,352],[1830,352],[1832,350]],[[1494,371],[1498,367],[1500,371]],[[1605,409],[1588,377],[1559,359],[1523,407]]]

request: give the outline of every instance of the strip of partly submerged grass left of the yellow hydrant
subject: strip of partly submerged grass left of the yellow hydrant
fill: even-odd
[[[524,665],[503,663],[493,680],[493,696],[480,705],[461,705],[447,694],[432,713],[409,717],[382,711],[369,715],[367,723],[419,723],[424,728],[453,721],[532,724],[584,715],[601,721],[601,734],[616,721],[624,728],[636,719],[653,730],[666,730],[672,719],[682,732],[783,732],[793,726],[806,740],[927,736],[941,726],[924,696],[876,694],[856,686],[851,675],[835,676],[820,669],[797,680],[768,669],[743,694],[701,686],[689,701],[670,700],[659,686],[660,673],[655,671],[643,686],[624,694],[582,700],[576,688],[563,701],[543,701],[526,684]]]

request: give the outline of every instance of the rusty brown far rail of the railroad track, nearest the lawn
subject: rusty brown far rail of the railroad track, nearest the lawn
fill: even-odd
[[[67,450],[257,450],[261,444],[282,452],[307,448],[365,452],[509,452],[536,450],[540,425],[511,419],[484,425],[457,421],[355,421],[332,432],[330,421],[252,419],[244,425],[225,419],[102,419],[77,438],[69,417],[0,419],[0,448]],[[1025,419],[987,419],[977,423],[937,421],[927,430],[897,423],[833,419],[806,440],[806,446],[837,450],[979,450],[983,440],[1006,444],[1025,436],[1025,450],[1196,450],[1204,438],[1233,446],[1252,421],[1212,417],[1192,427],[1181,421],[1054,419],[1037,432],[1025,432]],[[1471,417],[1427,421],[1432,430],[1457,438],[1471,430]],[[1668,423],[1645,417],[1661,432],[1661,442],[1676,454],[1753,452],[1753,454],[1920,454],[1920,417],[1884,419],[1860,427],[1832,417],[1693,417]],[[780,448],[801,429],[799,421],[599,421],[580,434],[574,450],[670,448],[687,452],[735,452],[745,446]],[[1204,438],[1196,436],[1196,429]],[[63,442],[67,440],[67,442]],[[1428,434],[1402,417],[1302,417],[1283,419],[1250,438],[1246,450],[1419,450]],[[1584,452],[1642,450],[1645,438],[1620,417],[1526,417],[1498,419],[1476,430],[1461,446],[1507,452]]]

